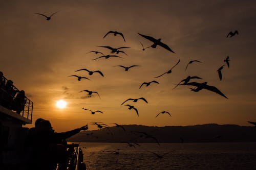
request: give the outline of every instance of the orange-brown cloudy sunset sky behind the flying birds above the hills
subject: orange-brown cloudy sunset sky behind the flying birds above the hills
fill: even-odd
[[[34,13],[51,15],[51,20]],[[79,128],[90,122],[111,125],[187,126],[197,124],[237,124],[256,122],[256,2],[255,1],[0,1],[0,70],[19,90],[33,101],[34,120],[49,119],[57,132]],[[230,31],[239,35],[226,38]],[[122,37],[109,31],[123,33]],[[138,33],[162,38],[176,53],[153,43]],[[123,49],[122,58],[100,58],[98,46]],[[87,54],[88,53],[88,54]],[[230,68],[217,69],[230,57]],[[171,74],[168,71],[178,60]],[[190,60],[202,63],[190,64]],[[141,65],[124,71],[115,65]],[[87,68],[100,70],[89,76]],[[90,80],[77,81],[70,75]],[[216,86],[228,99],[217,93],[193,92],[178,86],[187,76],[199,76]],[[143,82],[156,80],[148,87]],[[88,98],[81,90],[97,91]],[[129,110],[121,103],[129,98],[145,98]],[[55,106],[65,100],[67,107]],[[92,115],[89,111],[103,112]],[[168,111],[155,117],[161,111]],[[113,126],[113,125],[112,125]],[[90,129],[96,129],[90,125]]]

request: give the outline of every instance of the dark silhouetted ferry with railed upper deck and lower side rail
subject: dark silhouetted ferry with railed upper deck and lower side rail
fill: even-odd
[[[32,124],[33,102],[23,90],[18,90],[0,71],[0,169],[27,170],[30,160],[25,142]],[[84,170],[83,153],[78,144],[62,144],[66,156],[56,169]],[[46,169],[47,170],[47,169]]]

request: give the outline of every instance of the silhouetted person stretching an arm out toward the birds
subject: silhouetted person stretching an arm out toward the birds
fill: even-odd
[[[55,170],[59,160],[58,152],[60,152],[57,144],[61,140],[87,129],[87,126],[83,126],[68,132],[55,133],[49,120],[41,120],[30,138],[31,154],[28,160],[29,169]]]

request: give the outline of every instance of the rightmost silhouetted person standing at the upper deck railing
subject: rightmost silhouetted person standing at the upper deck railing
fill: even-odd
[[[25,91],[21,90],[18,92],[16,97],[13,99],[12,110],[15,110],[17,114],[20,114],[20,112],[24,110],[25,104],[26,104]]]

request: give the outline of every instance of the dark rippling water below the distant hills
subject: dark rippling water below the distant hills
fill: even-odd
[[[80,142],[80,147],[88,170],[256,169],[256,143],[140,143],[133,148]],[[107,152],[111,150],[119,154]],[[166,154],[160,159],[151,152]]]

